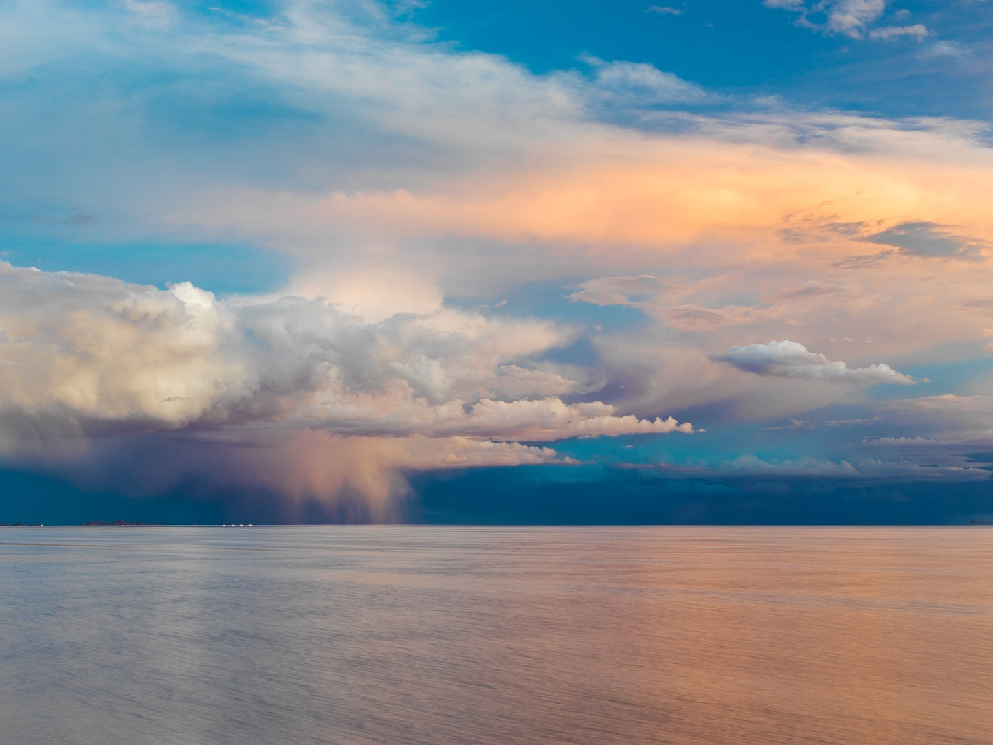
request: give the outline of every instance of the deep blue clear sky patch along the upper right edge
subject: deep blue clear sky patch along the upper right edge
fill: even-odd
[[[878,25],[922,24],[930,32],[923,41],[866,43],[805,28],[796,23],[800,17],[719,0],[446,0],[410,11],[439,40],[504,55],[538,74],[574,67],[588,54],[652,65],[731,96],[780,96],[794,105],[886,116],[989,117],[991,18],[983,3],[889,4]],[[824,20],[824,13],[811,16],[812,23]]]

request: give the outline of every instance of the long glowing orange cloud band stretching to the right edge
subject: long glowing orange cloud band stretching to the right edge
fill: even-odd
[[[815,252],[838,261],[864,250],[853,244],[857,237],[837,233],[784,239],[784,219],[812,209],[837,223],[910,214],[983,239],[993,234],[980,204],[993,189],[988,148],[936,125],[911,132],[878,124],[811,123],[806,134],[788,136],[779,122],[713,137],[611,132],[599,143],[572,140],[571,154],[561,150],[567,139],[549,141],[540,157],[518,153],[505,165],[417,189],[214,188],[173,218],[196,232],[264,239],[307,264],[355,262],[348,245],[389,250],[399,270],[433,275],[457,295],[488,279],[506,281],[510,267],[535,278],[562,277],[564,266],[570,278],[607,266],[657,275],[720,271],[734,256],[751,263]],[[774,132],[781,147],[759,141]],[[751,141],[724,139],[735,136]],[[425,247],[438,241],[458,243],[458,259]],[[490,261],[495,243],[508,256],[501,266]],[[724,305],[739,303],[715,307]]]

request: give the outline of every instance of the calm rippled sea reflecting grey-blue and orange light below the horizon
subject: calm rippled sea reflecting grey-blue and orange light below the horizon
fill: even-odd
[[[993,529],[0,528],[8,743],[991,743]]]

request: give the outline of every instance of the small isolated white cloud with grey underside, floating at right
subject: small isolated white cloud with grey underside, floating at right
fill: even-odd
[[[823,355],[809,352],[802,344],[788,340],[733,347],[714,359],[746,373],[819,382],[850,385],[875,385],[881,382],[913,385],[916,382],[910,375],[898,373],[885,363],[851,369],[844,362],[831,362]]]

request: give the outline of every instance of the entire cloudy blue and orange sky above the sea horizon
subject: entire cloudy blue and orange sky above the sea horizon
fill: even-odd
[[[991,27],[0,0],[0,522],[993,520]]]

